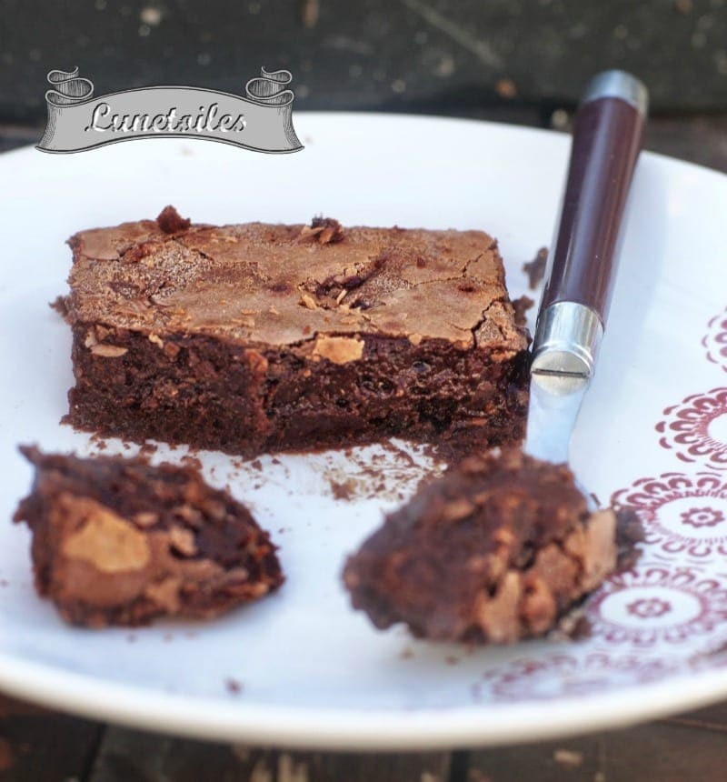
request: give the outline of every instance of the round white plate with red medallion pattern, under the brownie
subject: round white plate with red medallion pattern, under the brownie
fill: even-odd
[[[0,687],[200,737],[401,748],[613,727],[727,696],[727,178],[658,155],[638,167],[610,327],[573,437],[583,484],[636,506],[649,536],[636,569],[591,601],[591,637],[463,650],[376,632],[354,613],[345,554],[427,468],[380,448],[268,457],[262,472],[204,455],[207,476],[229,482],[281,546],[287,583],[253,607],[208,624],[88,631],[35,596],[28,532],[9,523],[30,480],[15,445],[96,447],[58,424],[70,338],[47,302],[65,290],[75,230],[168,203],[211,223],[323,213],[483,227],[500,239],[513,296],[525,291],[521,265],[553,233],[565,136],[383,115],[301,114],[295,125],[306,145],[296,155],[157,140],[0,158]],[[391,470],[376,499],[364,473],[374,455]],[[336,501],[331,481],[347,476],[356,498]]]

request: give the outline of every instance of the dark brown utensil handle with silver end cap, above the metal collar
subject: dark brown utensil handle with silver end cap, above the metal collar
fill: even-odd
[[[541,313],[557,302],[574,302],[593,309],[605,326],[646,103],[642,83],[621,71],[596,76],[583,98]]]

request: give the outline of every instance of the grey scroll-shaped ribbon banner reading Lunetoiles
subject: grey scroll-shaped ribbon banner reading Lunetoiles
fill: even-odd
[[[262,69],[245,96],[201,87],[152,86],[94,97],[90,79],[51,71],[43,152],[82,152],[136,138],[204,138],[256,152],[303,149],[293,127],[289,71]]]

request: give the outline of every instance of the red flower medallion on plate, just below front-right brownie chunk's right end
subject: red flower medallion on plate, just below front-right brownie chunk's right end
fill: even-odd
[[[636,567],[603,585],[588,617],[593,637],[638,648],[682,644],[721,625],[727,634],[727,581],[697,567]]]

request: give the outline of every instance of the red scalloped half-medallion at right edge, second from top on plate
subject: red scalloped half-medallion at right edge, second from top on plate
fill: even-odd
[[[663,411],[659,444],[684,462],[727,469],[727,388],[687,396]]]

